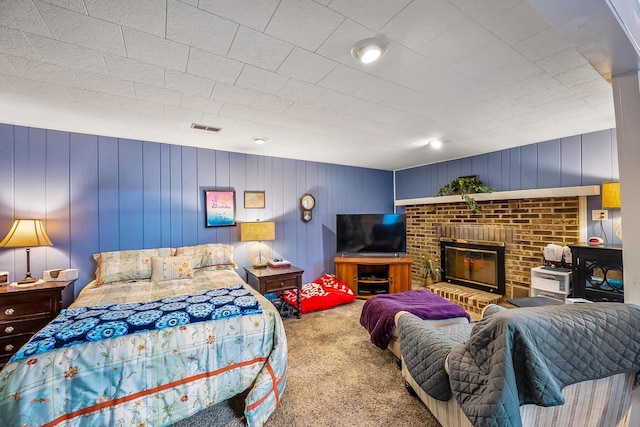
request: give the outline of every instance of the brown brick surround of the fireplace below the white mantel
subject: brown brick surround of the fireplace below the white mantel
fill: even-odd
[[[415,260],[414,284],[424,282],[420,259],[439,255],[443,237],[504,242],[505,297],[528,296],[530,271],[542,265],[542,248],[579,241],[578,196],[479,201],[478,205],[482,212],[476,215],[462,201],[406,205],[407,254]]]

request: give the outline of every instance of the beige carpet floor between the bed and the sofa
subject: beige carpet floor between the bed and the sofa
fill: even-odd
[[[285,319],[289,378],[267,427],[440,426],[407,393],[391,352],[369,341],[359,323],[363,303]],[[243,409],[236,397],[174,427],[244,426]]]

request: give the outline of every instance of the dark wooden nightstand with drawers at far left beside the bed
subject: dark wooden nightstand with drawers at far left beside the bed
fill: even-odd
[[[44,282],[30,288],[0,287],[0,368],[73,302],[74,282]]]

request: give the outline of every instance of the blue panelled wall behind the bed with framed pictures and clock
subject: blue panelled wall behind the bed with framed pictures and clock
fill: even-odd
[[[14,218],[44,219],[55,246],[32,249],[31,271],[78,268],[76,293],[103,251],[230,243],[248,265],[238,227],[205,227],[205,188],[235,189],[238,222],[276,221],[274,257],[304,268],[305,281],[334,272],[336,214],[393,211],[388,171],[6,124],[0,154],[0,237]],[[266,208],[245,210],[245,190],[265,191]],[[307,192],[317,203],[303,223]],[[22,278],[24,250],[0,249],[0,270]]]

